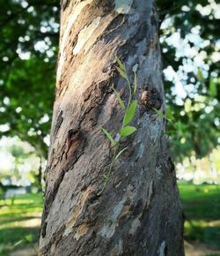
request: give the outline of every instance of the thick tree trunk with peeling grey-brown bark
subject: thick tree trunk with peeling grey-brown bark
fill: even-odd
[[[158,16],[154,0],[62,1],[60,53],[40,255],[181,256],[183,216],[165,135]],[[121,143],[98,196],[113,149],[100,127],[116,134],[137,68],[137,132]]]

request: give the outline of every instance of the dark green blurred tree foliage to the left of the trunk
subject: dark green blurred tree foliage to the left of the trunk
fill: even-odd
[[[58,1],[0,1],[0,124],[47,157],[58,43]],[[7,125],[5,125],[7,124]]]

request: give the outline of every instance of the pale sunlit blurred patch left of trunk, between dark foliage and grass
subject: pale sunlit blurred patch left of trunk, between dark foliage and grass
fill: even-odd
[[[42,167],[45,161],[40,161],[35,148],[21,141],[18,137],[4,139],[7,144],[0,146],[0,183],[8,185],[32,185],[42,190]],[[41,168],[40,168],[41,166]]]

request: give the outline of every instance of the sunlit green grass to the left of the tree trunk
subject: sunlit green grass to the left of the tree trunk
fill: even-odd
[[[15,247],[38,241],[42,196],[26,194],[0,200],[0,255],[6,256]]]

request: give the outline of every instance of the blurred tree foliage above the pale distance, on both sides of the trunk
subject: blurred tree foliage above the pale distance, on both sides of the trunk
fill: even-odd
[[[0,124],[4,124],[0,131],[18,135],[46,157],[59,1],[0,0],[0,4]],[[172,151],[179,160],[192,151],[197,156],[208,154],[218,143],[219,8],[214,0],[158,0],[166,99],[178,128],[169,127]]]

